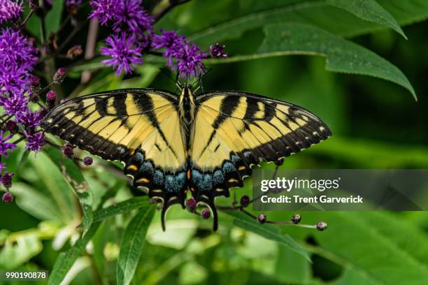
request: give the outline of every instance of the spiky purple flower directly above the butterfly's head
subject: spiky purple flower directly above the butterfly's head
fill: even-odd
[[[176,69],[182,78],[190,75],[197,76],[204,70],[202,59],[206,57],[204,52],[199,51],[197,45],[184,45],[178,53],[178,64]]]

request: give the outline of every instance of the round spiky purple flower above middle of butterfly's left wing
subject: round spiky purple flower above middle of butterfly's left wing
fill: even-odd
[[[103,64],[113,66],[116,75],[120,75],[122,70],[125,73],[132,73],[136,64],[142,64],[141,46],[136,46],[134,35],[128,36],[124,32],[106,38],[106,44],[110,47],[101,47],[101,54],[108,55],[111,59],[101,61]]]

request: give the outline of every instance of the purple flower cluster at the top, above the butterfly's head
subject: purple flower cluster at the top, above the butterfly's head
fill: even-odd
[[[210,53],[201,52],[197,45],[189,43],[185,36],[176,31],[153,32],[154,19],[141,6],[142,0],[92,0],[91,19],[101,25],[112,27],[116,34],[108,36],[101,47],[101,54],[111,57],[102,62],[113,66],[116,75],[132,73],[136,64],[142,64],[143,53],[163,50],[168,66],[178,71],[181,78],[198,76],[204,72],[203,59],[227,57],[224,45],[218,43],[210,47]]]

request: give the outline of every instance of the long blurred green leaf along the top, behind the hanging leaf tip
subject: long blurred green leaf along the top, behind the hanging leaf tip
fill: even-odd
[[[425,0],[379,0],[378,2],[401,25],[425,20],[428,17],[428,2]],[[245,6],[245,3],[241,6]],[[257,10],[245,9],[242,15],[241,10],[234,3],[229,3],[229,6],[225,6],[223,10],[206,15],[206,22],[212,22],[212,24],[192,34],[190,41],[202,47],[208,47],[216,42],[240,38],[245,31],[261,28],[267,24],[285,22],[312,24],[331,34],[344,37],[359,36],[385,29],[384,25],[367,22],[349,13],[340,13],[341,10],[323,1],[299,1],[299,3],[257,1],[248,5],[250,4],[253,6],[257,4]],[[236,11],[231,14],[231,18],[215,22],[219,13],[227,13],[230,9]]]

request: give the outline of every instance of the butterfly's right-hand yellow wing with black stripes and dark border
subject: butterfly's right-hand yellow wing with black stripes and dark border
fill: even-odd
[[[210,92],[197,96],[197,104],[190,157],[195,177],[213,174],[214,195],[227,196],[230,187],[241,187],[252,165],[280,164],[285,156],[331,136],[308,110],[264,96]],[[195,178],[193,187],[204,189],[204,181]]]

